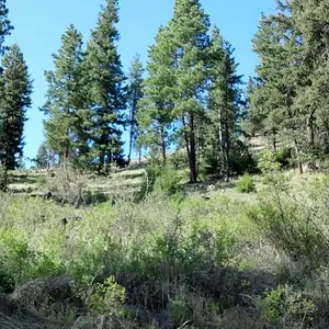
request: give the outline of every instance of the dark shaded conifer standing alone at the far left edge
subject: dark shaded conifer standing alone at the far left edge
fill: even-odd
[[[0,77],[0,162],[15,169],[23,156],[23,131],[31,106],[32,80],[18,45],[10,47],[2,59]]]

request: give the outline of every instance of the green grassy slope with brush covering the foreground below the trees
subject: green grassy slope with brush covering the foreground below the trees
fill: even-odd
[[[0,195],[0,328],[328,328],[326,248],[314,258],[327,174],[253,177],[257,193],[238,193],[238,179],[189,185],[181,170],[184,195],[79,208],[31,197],[45,174],[14,172]],[[84,189],[133,195],[144,177]]]

